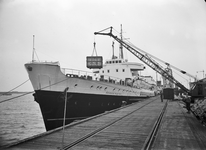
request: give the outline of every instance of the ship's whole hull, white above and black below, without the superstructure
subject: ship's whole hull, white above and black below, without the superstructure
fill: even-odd
[[[47,131],[63,125],[64,110],[65,124],[69,124],[121,107],[125,102],[154,95],[152,91],[127,86],[122,81],[106,81],[97,76],[91,77],[88,73],[83,76],[82,72],[75,70],[66,73],[58,63],[32,62],[25,64],[25,67]]]

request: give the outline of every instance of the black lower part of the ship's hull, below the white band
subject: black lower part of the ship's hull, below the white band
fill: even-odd
[[[65,106],[63,92],[38,90],[35,91],[34,97],[40,105],[46,130],[63,126]],[[65,124],[121,107],[123,101],[128,102],[128,97],[68,92]]]

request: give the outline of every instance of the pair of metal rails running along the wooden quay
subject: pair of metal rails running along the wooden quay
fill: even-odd
[[[133,110],[132,112],[130,112],[130,113],[128,113],[128,114],[126,114],[126,115],[124,115],[124,116],[122,116],[122,117],[120,117],[120,118],[117,118],[117,119],[115,119],[114,121],[112,121],[112,122],[110,122],[110,123],[108,123],[108,124],[106,124],[106,125],[98,128],[98,129],[95,129],[94,131],[92,131],[92,132],[90,132],[89,134],[87,134],[87,135],[79,138],[78,140],[76,140],[76,141],[74,141],[74,142],[72,142],[72,143],[70,143],[70,144],[68,144],[68,145],[64,145],[64,146],[61,148],[61,150],[67,150],[67,149],[74,148],[74,147],[78,146],[79,144],[81,144],[82,142],[88,140],[89,138],[91,138],[91,137],[93,137],[93,136],[95,136],[95,135],[98,135],[98,134],[102,133],[103,131],[105,131],[106,129],[110,128],[110,127],[113,126],[114,124],[117,124],[118,122],[122,121],[124,118],[126,118],[126,117],[134,114],[134,113],[137,112],[137,111],[142,110],[144,107],[150,105],[151,103],[153,103],[153,102],[156,101],[156,100],[157,100],[157,99],[154,99],[154,100],[152,100],[152,101],[149,101],[149,102],[145,103],[144,105],[142,105],[141,107]],[[159,99],[158,99],[158,100],[159,100]],[[155,123],[154,123],[154,125],[153,125],[153,127],[152,127],[152,129],[151,129],[151,131],[150,131],[150,133],[149,133],[149,135],[147,136],[147,138],[146,138],[146,140],[145,140],[145,142],[144,142],[144,145],[143,145],[143,147],[142,147],[142,150],[148,150],[148,149],[151,148],[151,146],[152,146],[152,144],[153,144],[153,142],[154,142],[155,136],[156,136],[156,134],[157,134],[157,132],[158,132],[158,129],[159,129],[159,127],[160,127],[160,124],[161,124],[162,118],[163,118],[163,116],[164,116],[164,113],[165,113],[165,111],[166,111],[166,108],[167,108],[167,102],[165,103],[163,109],[162,109],[161,112],[159,113],[159,115],[158,115],[158,117],[157,117],[157,119],[156,119],[156,121],[155,121]]]

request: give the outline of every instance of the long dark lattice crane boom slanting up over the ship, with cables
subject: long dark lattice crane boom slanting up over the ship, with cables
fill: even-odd
[[[109,32],[106,32],[106,30],[109,29]],[[160,64],[158,64],[155,60],[159,60],[161,62],[163,62],[164,64],[166,64],[169,67],[173,67],[175,69],[177,69],[178,71],[180,71],[183,74],[187,74],[188,76],[192,77],[195,79],[194,76],[188,74],[186,71],[180,70],[172,65],[170,65],[167,62],[164,62],[152,55],[150,55],[149,53],[144,52],[143,50],[141,50],[140,48],[127,43],[125,41],[123,41],[122,39],[118,38],[117,36],[115,36],[112,33],[113,27],[109,27],[106,28],[104,30],[101,30],[99,32],[95,32],[95,35],[107,35],[110,36],[112,38],[114,38],[117,42],[119,42],[124,48],[126,48],[128,51],[130,51],[133,55],[135,55],[137,58],[139,58],[142,62],[144,62],[146,65],[148,65],[150,68],[152,68],[154,71],[158,72],[159,74],[161,74],[163,77],[165,77],[166,79],[168,79],[170,82],[174,83],[176,86],[178,86],[179,88],[181,88],[184,92],[190,94],[190,90],[187,89],[184,85],[182,85],[179,81],[177,81],[169,72],[168,69],[163,68]],[[153,57],[153,58],[152,58]]]

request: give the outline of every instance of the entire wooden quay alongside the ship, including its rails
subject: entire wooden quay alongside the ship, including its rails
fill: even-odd
[[[69,124],[64,134],[61,127],[3,149],[206,149],[206,127],[183,106],[161,102],[159,96],[148,98]]]

